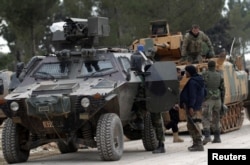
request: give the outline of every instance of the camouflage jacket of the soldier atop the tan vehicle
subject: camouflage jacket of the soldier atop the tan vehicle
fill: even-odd
[[[208,36],[200,31],[198,36],[194,36],[191,32],[186,33],[184,36],[181,55],[187,56],[189,54],[202,55],[202,43],[205,42],[209,48],[209,51],[214,52],[212,43]]]

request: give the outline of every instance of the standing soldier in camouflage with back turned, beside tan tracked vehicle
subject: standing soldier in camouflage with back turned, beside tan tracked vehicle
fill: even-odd
[[[220,111],[223,107],[225,87],[224,79],[220,72],[215,70],[215,61],[208,62],[208,71],[202,74],[205,86],[207,88],[207,96],[203,103],[203,132],[204,140],[203,145],[211,142],[210,137],[210,122],[212,121],[212,130],[214,133],[214,139],[212,143],[220,143]]]

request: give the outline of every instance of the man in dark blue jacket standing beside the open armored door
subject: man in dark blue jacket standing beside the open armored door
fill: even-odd
[[[190,78],[180,93],[180,107],[186,110],[187,129],[193,140],[189,151],[204,151],[199,123],[202,119],[202,102],[205,95],[204,80],[193,65],[185,67],[186,77]]]

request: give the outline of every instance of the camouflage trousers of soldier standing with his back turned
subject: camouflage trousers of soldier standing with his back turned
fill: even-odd
[[[202,125],[206,130],[220,130],[221,99],[207,99],[202,105]]]

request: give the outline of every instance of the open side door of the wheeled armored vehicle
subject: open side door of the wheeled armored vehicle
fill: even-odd
[[[150,112],[170,110],[179,101],[179,81],[174,62],[155,62],[145,78],[146,106]]]

